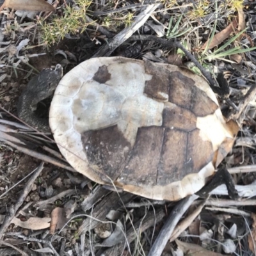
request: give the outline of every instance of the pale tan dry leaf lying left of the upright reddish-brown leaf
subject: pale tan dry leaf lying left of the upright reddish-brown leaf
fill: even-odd
[[[51,221],[51,218],[37,218],[37,217],[32,217],[26,221],[21,221],[20,219],[14,217],[12,220],[12,223],[22,228],[40,230],[44,228],[49,228],[50,221]]]

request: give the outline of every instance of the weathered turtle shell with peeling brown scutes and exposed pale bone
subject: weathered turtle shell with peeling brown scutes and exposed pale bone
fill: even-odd
[[[77,172],[155,200],[201,189],[236,136],[205,79],[120,57],[93,58],[68,72],[49,123]]]

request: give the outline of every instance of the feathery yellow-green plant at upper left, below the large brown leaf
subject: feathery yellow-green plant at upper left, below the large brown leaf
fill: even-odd
[[[76,3],[76,7],[67,6],[63,16],[55,15],[51,22],[39,20],[44,44],[58,43],[67,34],[83,33],[88,26],[85,15],[92,1],[77,0]]]

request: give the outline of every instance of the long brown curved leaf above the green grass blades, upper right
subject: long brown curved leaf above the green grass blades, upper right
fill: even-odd
[[[219,33],[213,36],[211,44],[208,46],[208,49],[211,49],[219,44],[221,44],[228,36],[235,31],[237,28],[237,17],[232,20],[232,22]],[[208,39],[205,44],[202,46],[201,50],[204,50],[207,47],[207,44],[210,39]]]

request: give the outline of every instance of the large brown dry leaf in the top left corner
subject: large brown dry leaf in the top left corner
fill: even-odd
[[[54,7],[44,0],[5,0],[3,5],[0,7],[0,11],[6,7],[13,8],[15,10],[55,12]]]

